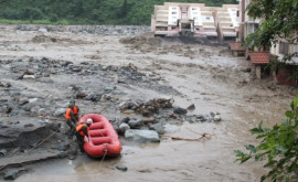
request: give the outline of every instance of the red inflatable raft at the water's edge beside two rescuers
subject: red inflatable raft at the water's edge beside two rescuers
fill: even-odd
[[[84,139],[85,152],[93,158],[118,156],[123,146],[109,120],[102,115],[89,114],[83,116],[78,124],[85,122],[88,118],[93,119],[93,124],[88,131],[89,140],[87,137]]]

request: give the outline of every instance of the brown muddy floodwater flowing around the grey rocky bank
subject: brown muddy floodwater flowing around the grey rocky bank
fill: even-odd
[[[65,29],[66,30],[66,29]],[[142,84],[123,83],[121,75],[51,74],[53,81],[36,86],[34,82],[19,83],[14,78],[0,78],[19,87],[30,87],[55,98],[58,106],[72,88],[64,84],[97,92],[117,86],[118,99],[173,98],[174,106],[187,108],[194,104],[190,115],[217,113],[221,121],[179,125],[179,130],[167,133],[181,138],[199,138],[207,132],[211,139],[200,141],[174,141],[167,137],[160,143],[138,144],[123,141],[123,152],[117,159],[94,160],[78,156],[76,160],[55,159],[32,164],[30,171],[20,175],[18,182],[46,181],[258,181],[266,172],[262,164],[247,162],[240,165],[234,150],[255,143],[249,129],[260,120],[279,122],[289,103],[298,93],[296,88],[275,85],[274,82],[254,79],[249,61],[234,57],[225,46],[206,46],[164,42],[150,33],[141,36],[104,35],[86,32],[20,31],[14,26],[0,29],[0,60],[55,60],[82,62],[103,66],[134,65],[138,72],[150,77]],[[6,67],[3,65],[0,66]],[[0,69],[0,72],[3,72]],[[100,77],[100,78],[99,78]],[[73,81],[76,79],[76,81]],[[97,82],[97,81],[106,81]],[[152,83],[151,83],[152,82]],[[123,84],[118,84],[123,83]],[[22,84],[22,85],[19,85]],[[93,90],[96,92],[96,90]],[[116,97],[114,95],[114,97]],[[70,98],[70,97],[68,97]],[[66,103],[67,104],[67,103]],[[100,113],[108,117],[123,117],[108,101],[86,103],[77,100],[83,114]],[[10,117],[1,115],[1,120]],[[179,118],[178,118],[179,119]],[[115,165],[125,165],[126,172]]]

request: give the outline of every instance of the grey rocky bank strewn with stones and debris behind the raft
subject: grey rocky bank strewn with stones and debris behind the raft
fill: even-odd
[[[85,114],[115,111],[108,116],[115,129],[138,142],[159,142],[160,135],[184,121],[221,120],[219,113],[188,115],[195,106],[173,107],[172,98],[128,99],[136,88],[181,95],[159,84],[159,75],[140,73],[132,64],[119,67],[30,57],[1,60],[0,65],[1,171],[45,159],[74,159],[77,147],[64,119],[70,99],[76,99]],[[2,173],[4,179],[8,173],[11,170]]]

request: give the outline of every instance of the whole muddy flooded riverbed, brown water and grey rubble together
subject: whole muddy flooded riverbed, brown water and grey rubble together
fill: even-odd
[[[278,122],[296,88],[254,79],[249,62],[226,46],[169,42],[146,32],[127,36],[118,26],[111,34],[33,28],[0,29],[1,175],[15,170],[15,181],[172,182],[257,181],[266,172],[260,164],[235,163],[234,150],[255,143],[248,130],[260,120]],[[120,137],[119,158],[77,154],[63,118],[71,98],[82,115],[108,117],[120,135],[127,117],[153,120],[141,128],[157,130],[161,141],[140,144]],[[145,116],[131,107],[153,99],[174,103]],[[191,105],[185,115],[174,111]],[[171,140],[202,133],[211,138]]]

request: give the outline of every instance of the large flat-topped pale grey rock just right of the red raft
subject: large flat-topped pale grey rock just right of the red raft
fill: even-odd
[[[158,132],[152,130],[128,129],[125,131],[125,138],[142,143],[160,142]]]

